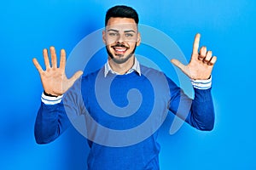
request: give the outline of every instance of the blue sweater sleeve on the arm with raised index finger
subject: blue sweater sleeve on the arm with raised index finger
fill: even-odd
[[[192,127],[211,131],[214,126],[212,88],[199,89],[194,86],[195,97],[190,99],[171,79],[167,79],[171,94],[169,110]]]

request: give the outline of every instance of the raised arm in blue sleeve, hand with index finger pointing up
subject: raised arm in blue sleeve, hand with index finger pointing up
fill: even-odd
[[[193,127],[201,130],[212,130],[214,109],[211,94],[211,74],[217,57],[212,57],[212,51],[207,51],[206,47],[202,47],[198,52],[200,37],[200,34],[195,36],[189,65],[183,65],[177,59],[172,59],[172,64],[180,68],[191,79],[195,98],[189,99],[182,90],[173,88],[171,89],[174,93],[170,110]]]

